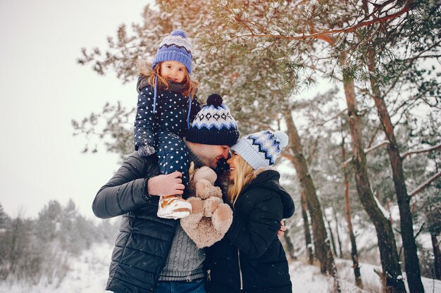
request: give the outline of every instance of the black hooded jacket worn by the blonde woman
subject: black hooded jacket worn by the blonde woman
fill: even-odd
[[[265,170],[240,194],[230,230],[209,249],[210,293],[292,292],[277,232],[280,220],[294,213],[294,202],[279,178],[277,171]]]

